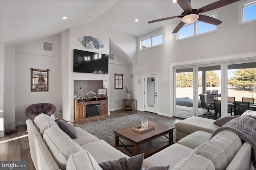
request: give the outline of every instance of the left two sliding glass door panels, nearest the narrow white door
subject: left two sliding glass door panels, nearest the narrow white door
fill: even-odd
[[[213,117],[214,100],[221,99],[221,65],[204,64],[190,67],[174,68],[174,116],[187,118],[191,116]],[[204,95],[208,109],[201,103],[199,94]],[[205,114],[204,114],[205,115]]]

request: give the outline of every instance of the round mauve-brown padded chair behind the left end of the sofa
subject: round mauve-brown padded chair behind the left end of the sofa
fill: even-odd
[[[37,115],[44,113],[46,115],[54,114],[57,111],[56,107],[50,103],[32,104],[26,109],[26,116],[34,119]]]

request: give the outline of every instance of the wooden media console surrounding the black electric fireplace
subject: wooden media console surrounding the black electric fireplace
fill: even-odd
[[[86,105],[100,104],[100,115],[86,117]],[[108,116],[108,96],[85,98],[84,100],[74,99],[74,119],[75,122],[95,119]]]

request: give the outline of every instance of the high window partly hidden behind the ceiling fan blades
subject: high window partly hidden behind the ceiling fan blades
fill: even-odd
[[[210,15],[212,18],[216,18],[216,14]],[[202,21],[196,21],[194,23],[189,23],[184,25],[177,33],[177,39],[183,39],[187,37],[193,37],[196,35],[201,35],[203,33],[210,33],[217,31],[217,26],[210,23],[205,23]]]

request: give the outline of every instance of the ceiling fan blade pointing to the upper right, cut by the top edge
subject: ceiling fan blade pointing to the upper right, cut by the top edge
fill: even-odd
[[[240,1],[240,0],[219,0],[217,2],[214,2],[212,4],[206,5],[206,6],[202,7],[202,8],[199,8],[198,9],[198,14],[202,13],[202,12],[207,12],[207,11],[210,11],[210,10],[215,10],[217,8],[220,8],[222,6],[226,6],[226,5],[232,4],[232,3],[237,2],[237,1]]]

